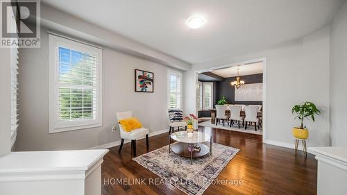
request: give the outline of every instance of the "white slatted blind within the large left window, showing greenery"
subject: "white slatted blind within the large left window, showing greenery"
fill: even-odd
[[[96,119],[96,56],[59,47],[59,120]]]

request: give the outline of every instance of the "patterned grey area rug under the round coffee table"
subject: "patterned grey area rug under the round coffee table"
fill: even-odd
[[[203,194],[238,151],[213,143],[212,155],[196,158],[190,164],[189,158],[180,157],[172,151],[169,153],[169,146],[164,146],[133,160],[160,176],[164,183],[174,185],[186,194]]]

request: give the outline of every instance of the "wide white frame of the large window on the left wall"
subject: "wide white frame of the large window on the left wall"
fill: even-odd
[[[96,56],[96,119],[59,121],[59,47],[89,53]],[[102,86],[103,86],[103,63],[102,49],[90,44],[72,40],[68,37],[60,37],[49,33],[49,133],[65,132],[102,126]],[[67,84],[72,87],[76,84]],[[81,86],[81,85],[79,85]],[[94,88],[94,87],[92,87]]]

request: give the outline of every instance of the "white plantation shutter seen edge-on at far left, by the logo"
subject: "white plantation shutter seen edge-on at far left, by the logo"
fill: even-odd
[[[10,28],[15,31],[17,28],[14,15],[11,17]],[[18,37],[13,37],[12,40],[17,40]],[[17,103],[17,74],[18,74],[18,46],[13,44],[10,48],[10,66],[11,66],[11,143],[15,144],[18,129],[18,103]]]

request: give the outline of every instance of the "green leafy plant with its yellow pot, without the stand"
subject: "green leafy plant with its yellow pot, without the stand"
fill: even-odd
[[[301,126],[293,128],[293,135],[298,139],[307,139],[308,130],[306,126],[304,126],[304,119],[312,119],[314,121],[314,116],[321,114],[321,111],[314,105],[314,103],[310,101],[306,101],[305,103],[301,103],[298,105],[294,105],[291,108],[291,113],[296,114],[296,118],[300,119]]]

